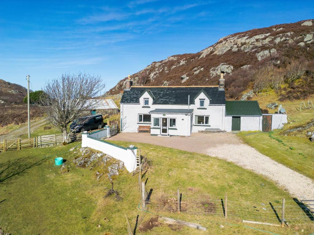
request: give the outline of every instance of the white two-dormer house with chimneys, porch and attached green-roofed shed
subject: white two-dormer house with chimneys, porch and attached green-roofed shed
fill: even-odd
[[[120,102],[121,132],[140,128],[151,135],[190,136],[272,126],[257,101],[226,101],[224,81],[223,75],[219,86],[132,86],[128,80]]]

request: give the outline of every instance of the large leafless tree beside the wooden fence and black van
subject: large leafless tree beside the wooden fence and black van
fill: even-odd
[[[68,124],[75,119],[83,120],[84,111],[95,109],[100,99],[89,100],[99,95],[105,84],[98,75],[62,74],[61,77],[47,81],[43,91],[43,110],[47,120],[63,133],[64,142],[68,142]]]

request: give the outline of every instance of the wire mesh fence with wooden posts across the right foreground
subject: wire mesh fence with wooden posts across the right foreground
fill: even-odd
[[[146,194],[147,210],[153,213],[188,213],[216,215],[231,219],[264,222],[271,224],[311,223],[313,217],[313,200],[298,199],[274,201],[241,201],[226,196],[193,195],[180,193]]]

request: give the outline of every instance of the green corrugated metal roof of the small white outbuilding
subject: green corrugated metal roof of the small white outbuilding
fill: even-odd
[[[226,100],[226,116],[262,116],[262,112],[256,100]]]

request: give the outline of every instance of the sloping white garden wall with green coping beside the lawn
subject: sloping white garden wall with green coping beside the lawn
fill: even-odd
[[[105,130],[103,130],[103,132],[105,132]],[[129,172],[132,172],[136,169],[137,148],[134,148],[133,150],[124,148],[122,146],[106,142],[104,140],[90,137],[88,133],[82,134],[82,148],[84,147],[96,149],[112,156],[117,160],[122,161],[125,168]]]

